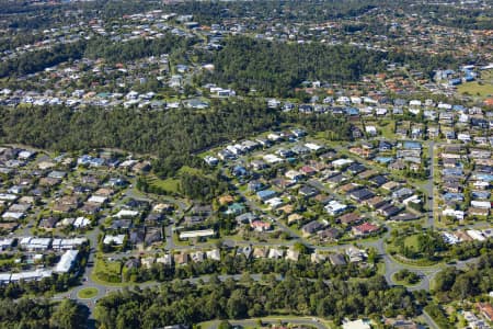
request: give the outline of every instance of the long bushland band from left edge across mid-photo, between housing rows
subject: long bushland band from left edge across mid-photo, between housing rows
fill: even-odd
[[[188,109],[139,112],[131,109],[105,111],[89,107],[30,107],[1,112],[1,137],[56,150],[121,148],[157,155],[157,172],[174,174],[183,164],[197,166],[193,156],[226,140],[248,137],[287,123],[306,124],[310,132],[333,131],[346,139],[349,124],[332,115],[296,116],[266,109],[262,101],[217,102],[204,113]],[[311,117],[311,118],[310,118]],[[202,160],[200,160],[202,162]]]

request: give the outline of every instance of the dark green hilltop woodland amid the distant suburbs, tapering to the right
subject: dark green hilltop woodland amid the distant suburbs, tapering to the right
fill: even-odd
[[[221,50],[206,53],[203,59],[215,65],[215,70],[203,77],[204,82],[230,86],[240,93],[256,90],[267,97],[293,97],[295,88],[306,80],[358,81],[364,75],[381,71],[387,63],[409,64],[432,75],[437,66],[454,61],[446,54],[423,57],[349,45],[278,43],[245,36],[229,38]]]

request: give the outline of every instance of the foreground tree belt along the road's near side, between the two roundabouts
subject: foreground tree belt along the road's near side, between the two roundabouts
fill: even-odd
[[[363,282],[331,283],[294,280],[193,285],[174,281],[159,290],[123,291],[99,300],[95,318],[105,328],[158,328],[214,318],[244,318],[287,311],[340,321],[343,317],[416,314],[416,304],[402,287],[388,287],[381,276]]]

